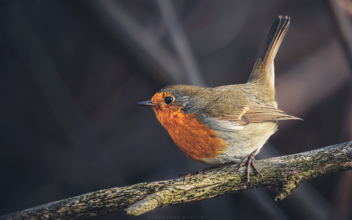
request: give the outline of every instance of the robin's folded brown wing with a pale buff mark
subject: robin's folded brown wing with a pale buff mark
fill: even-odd
[[[230,106],[221,106],[211,112],[205,112],[207,117],[214,117],[224,121],[233,121],[238,125],[247,125],[250,123],[268,122],[287,119],[299,119],[285,114],[283,111],[274,108],[263,102],[252,102],[250,105],[231,108]]]

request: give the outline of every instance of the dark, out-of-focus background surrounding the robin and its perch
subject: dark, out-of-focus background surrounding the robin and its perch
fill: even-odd
[[[278,15],[291,17],[278,108],[304,121],[280,121],[257,159],[352,139],[351,1],[2,0],[0,215],[205,168],[136,103],[169,84],[245,83]],[[98,219],[352,219],[352,171],[277,193]]]

